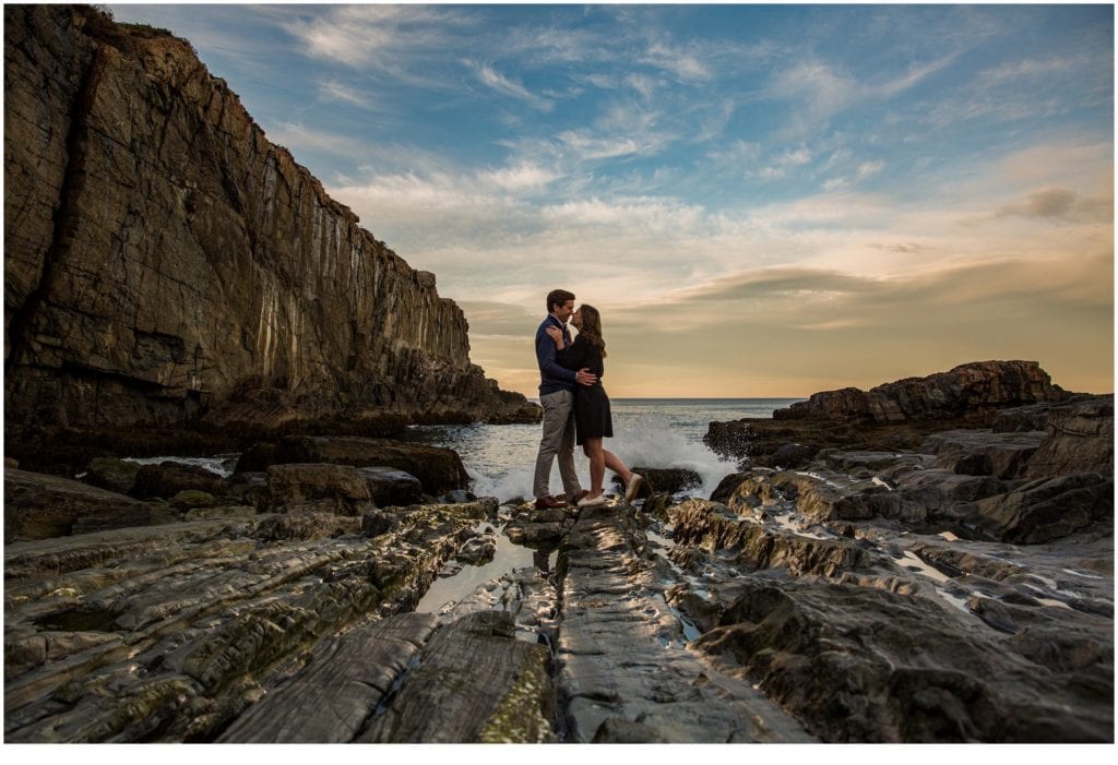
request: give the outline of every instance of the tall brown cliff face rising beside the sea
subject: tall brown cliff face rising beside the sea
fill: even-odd
[[[531,417],[188,42],[7,6],[4,88],[8,423]]]

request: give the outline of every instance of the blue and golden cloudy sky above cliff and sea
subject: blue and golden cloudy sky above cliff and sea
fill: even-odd
[[[1112,6],[107,8],[433,271],[505,390],[555,288],[614,398],[1114,390]]]

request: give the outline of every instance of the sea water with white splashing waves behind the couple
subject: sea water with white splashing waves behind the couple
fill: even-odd
[[[768,418],[803,399],[612,399],[614,437],[605,447],[628,467],[688,468],[702,478],[694,496],[709,497],[737,469],[737,460],[711,451],[703,437],[712,421]],[[408,437],[454,449],[466,467],[471,490],[501,503],[532,497],[532,476],[540,425],[415,425]],[[589,465],[576,447],[575,466],[582,487],[590,485]],[[606,470],[607,493],[614,490]],[[558,465],[551,468],[551,493],[562,493]]]

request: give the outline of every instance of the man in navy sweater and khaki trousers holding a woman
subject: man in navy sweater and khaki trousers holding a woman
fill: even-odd
[[[569,345],[567,319],[575,313],[575,295],[566,289],[548,294],[548,316],[536,331],[536,361],[540,366],[540,405],[543,407],[543,438],[536,458],[536,480],[532,491],[538,509],[565,507],[586,496],[575,472],[575,386],[593,385],[597,375],[587,370],[571,372],[556,361],[556,344],[548,337],[548,327],[559,327]],[[559,457],[566,500],[551,496],[551,463]]]

